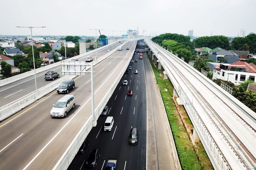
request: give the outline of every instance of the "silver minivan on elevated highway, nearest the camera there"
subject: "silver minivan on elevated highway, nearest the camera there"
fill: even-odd
[[[66,117],[71,108],[75,108],[75,97],[73,95],[65,95],[53,104],[50,116]]]

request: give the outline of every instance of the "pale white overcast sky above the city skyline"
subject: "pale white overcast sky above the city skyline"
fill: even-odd
[[[95,35],[89,29],[196,36],[256,33],[256,0],[1,0],[0,35]],[[119,36],[120,32],[114,32]],[[151,33],[152,35],[153,33]]]

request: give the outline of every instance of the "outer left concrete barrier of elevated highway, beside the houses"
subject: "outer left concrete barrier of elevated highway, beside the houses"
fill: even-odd
[[[114,41],[113,43],[116,43],[117,41]],[[103,48],[109,47],[111,45],[112,45],[112,43],[108,44],[106,46],[97,48],[97,51],[101,50]],[[86,56],[88,54],[94,53],[95,51],[96,51],[96,49],[95,50],[91,50],[91,51],[86,52],[86,53],[83,53],[83,54],[80,54],[80,55],[77,55],[77,56],[74,56],[74,57],[71,57],[71,58],[68,58],[67,61],[71,61],[72,59],[77,59],[77,58],[80,58],[80,57],[84,57],[84,56]],[[53,63],[53,64],[50,64],[50,65],[47,65],[47,66],[44,66],[44,67],[37,68],[37,69],[35,69],[35,73],[37,74],[37,73],[43,72],[45,70],[48,70],[48,69],[51,69],[51,68],[54,68],[54,67],[57,67],[57,66],[60,66],[60,62]],[[31,75],[34,75],[34,70],[31,70],[31,71],[28,71],[28,72],[25,72],[25,73],[22,73],[22,74],[18,74],[18,75],[15,75],[15,76],[7,78],[7,79],[0,80],[0,87],[4,86],[6,84],[13,83],[15,81],[24,79],[24,78],[29,77]]]

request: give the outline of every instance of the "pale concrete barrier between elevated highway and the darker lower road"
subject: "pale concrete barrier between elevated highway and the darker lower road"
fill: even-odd
[[[122,46],[124,46],[126,43],[123,43]],[[137,41],[136,41],[136,43],[137,43]],[[134,53],[134,51],[135,51],[135,49],[133,50],[133,53]],[[133,55],[133,53],[132,53],[132,55]],[[130,56],[130,60],[131,60],[132,55]],[[128,60],[128,61],[130,61],[130,60]],[[99,63],[99,61],[98,61],[98,63]],[[121,80],[121,78],[122,78],[122,76],[123,76],[123,74],[124,74],[124,72],[125,72],[125,70],[126,70],[126,68],[128,67],[129,64],[130,63],[128,62],[125,65],[125,67],[120,72],[117,79],[115,80],[115,82],[112,84],[112,86],[106,92],[106,95],[102,98],[102,100],[100,101],[98,106],[95,108],[94,112],[95,112],[95,117],[96,117],[97,120],[100,116],[100,113],[103,111],[104,106],[106,105],[106,103],[108,103],[110,97],[112,96],[113,92],[115,91],[115,88],[117,87],[119,81]],[[82,142],[85,140],[85,138],[87,137],[88,133],[90,132],[90,130],[92,128],[93,128],[93,118],[92,118],[92,116],[90,116],[89,119],[84,124],[84,126],[79,131],[79,133],[76,135],[74,140],[71,142],[71,144],[69,145],[67,150],[60,157],[57,164],[53,168],[54,170],[55,169],[57,169],[57,170],[66,170],[66,169],[68,169],[68,166],[70,165],[70,163],[74,159],[75,155],[77,154],[80,146],[82,145]]]

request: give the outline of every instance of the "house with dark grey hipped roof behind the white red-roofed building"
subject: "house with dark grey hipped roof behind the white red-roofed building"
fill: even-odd
[[[209,59],[214,60],[216,63],[218,62],[218,57],[224,57],[228,64],[232,64],[234,62],[237,62],[239,60],[239,55],[227,50],[219,50],[216,53],[212,53],[208,56]]]

